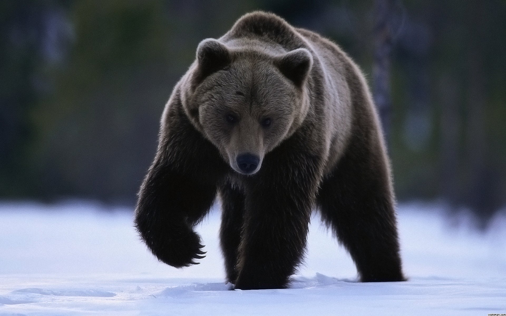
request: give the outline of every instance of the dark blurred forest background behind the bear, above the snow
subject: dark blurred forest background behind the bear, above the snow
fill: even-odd
[[[0,198],[133,204],[198,42],[259,9],[362,67],[400,201],[504,209],[504,0],[2,1]]]

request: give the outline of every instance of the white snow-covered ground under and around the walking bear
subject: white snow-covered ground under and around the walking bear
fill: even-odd
[[[400,205],[398,213],[408,282],[356,282],[353,262],[316,215],[289,289],[229,291],[218,210],[197,229],[207,257],[176,269],[146,250],[128,210],[4,202],[0,316],[506,313],[506,218],[480,234],[450,225],[434,205]]]

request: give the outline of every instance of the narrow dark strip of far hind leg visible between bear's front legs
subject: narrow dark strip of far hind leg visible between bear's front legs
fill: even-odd
[[[220,242],[225,257],[227,281],[235,283],[237,279],[237,255],[241,241],[244,214],[244,194],[226,184],[220,188],[222,198],[222,224]]]

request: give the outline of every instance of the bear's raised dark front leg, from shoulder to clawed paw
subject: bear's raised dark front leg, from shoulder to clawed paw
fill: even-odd
[[[139,192],[135,226],[160,261],[182,267],[203,258],[193,227],[213,204],[226,165],[184,115],[170,119]]]

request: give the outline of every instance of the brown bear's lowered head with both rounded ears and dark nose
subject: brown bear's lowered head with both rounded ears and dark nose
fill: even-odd
[[[183,107],[235,171],[253,174],[304,120],[312,64],[304,48],[270,54],[255,45],[229,48],[204,39],[188,72]]]

